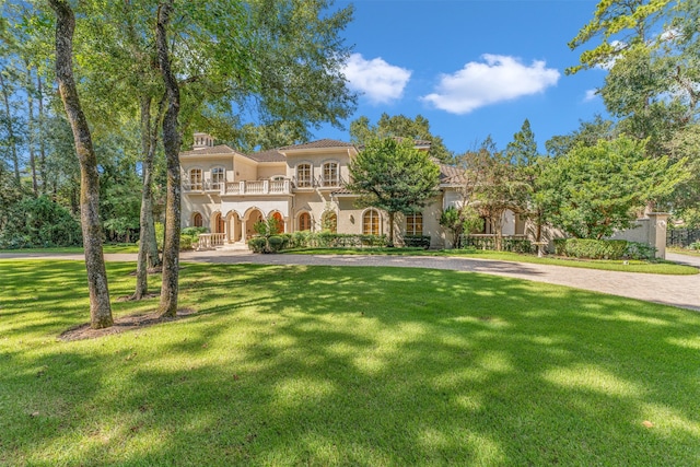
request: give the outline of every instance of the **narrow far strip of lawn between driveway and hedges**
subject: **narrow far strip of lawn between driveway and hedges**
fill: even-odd
[[[571,259],[536,255],[522,255],[509,252],[481,249],[422,249],[422,248],[306,248],[282,252],[298,255],[397,255],[397,256],[459,256],[475,259],[529,262],[536,265],[569,266],[572,268],[599,269],[607,271],[643,272],[669,276],[691,276],[700,272],[698,268],[678,265],[672,261]],[[627,262],[627,264],[626,264]]]

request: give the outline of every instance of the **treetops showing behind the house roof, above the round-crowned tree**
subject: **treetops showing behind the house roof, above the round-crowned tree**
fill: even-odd
[[[421,115],[410,119],[404,115],[389,117],[388,114],[382,114],[375,126],[370,125],[370,119],[363,116],[350,124],[350,138],[359,145],[383,138],[425,140],[430,141],[430,155],[433,157],[442,162],[450,162],[454,157],[442,138],[430,131],[430,122]]]

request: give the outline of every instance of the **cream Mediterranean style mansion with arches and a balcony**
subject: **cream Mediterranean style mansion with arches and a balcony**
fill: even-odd
[[[429,151],[430,142],[416,141],[416,148]],[[288,233],[388,234],[388,214],[357,208],[357,196],[345,188],[357,154],[353,144],[330,139],[244,154],[214,145],[207,133],[195,133],[192,149],[179,155],[183,226],[208,227],[207,246],[245,244],[255,234],[253,225],[270,218]],[[450,246],[439,219],[443,209],[460,202],[460,173],[435,163],[441,168],[439,196],[422,212],[397,215],[399,242],[402,235],[428,235],[431,247]],[[503,234],[524,237],[525,222],[506,211]]]

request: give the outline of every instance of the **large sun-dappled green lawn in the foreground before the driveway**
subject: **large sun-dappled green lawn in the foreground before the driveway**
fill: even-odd
[[[129,294],[133,264],[107,268]],[[63,342],[88,318],[81,261],[0,261],[0,465],[700,458],[696,312],[457,271],[184,264],[196,315]]]

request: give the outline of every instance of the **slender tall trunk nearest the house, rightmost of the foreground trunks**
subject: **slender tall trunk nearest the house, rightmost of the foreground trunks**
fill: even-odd
[[[158,10],[155,46],[158,61],[167,93],[167,110],[163,118],[163,147],[167,165],[167,189],[165,202],[165,242],[163,245],[163,284],[161,287],[162,316],[177,314],[179,280],[179,222],[180,222],[180,176],[179,176],[179,89],[171,70],[166,31],[173,12],[173,0],[162,2]]]

